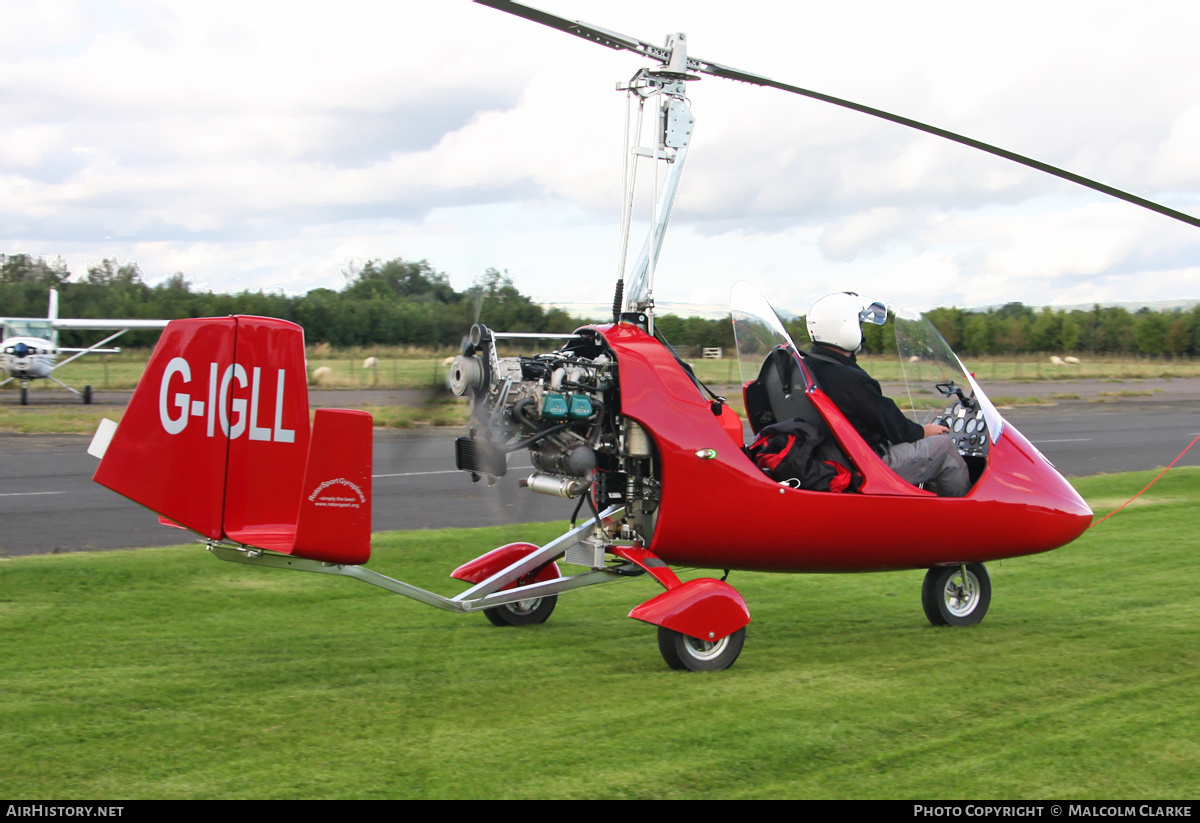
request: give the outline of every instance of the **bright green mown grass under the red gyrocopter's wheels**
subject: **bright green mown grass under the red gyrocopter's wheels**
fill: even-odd
[[[1150,476],[1078,486],[1104,510]],[[1174,470],[991,564],[964,630],[926,624],[920,572],[734,572],[746,648],[703,675],[624,617],[644,578],[502,630],[194,545],[0,560],[0,794],[1194,798],[1198,493]],[[449,594],[455,565],[560,528],[377,535],[371,567]]]

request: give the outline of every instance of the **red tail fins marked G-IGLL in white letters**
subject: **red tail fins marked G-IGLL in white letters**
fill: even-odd
[[[304,331],[262,317],[174,320],[94,479],[168,521],[324,563],[371,555],[365,412],[308,422]]]

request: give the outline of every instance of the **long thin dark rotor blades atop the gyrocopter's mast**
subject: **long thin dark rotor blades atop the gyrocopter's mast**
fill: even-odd
[[[581,20],[568,20],[566,18],[551,14],[548,12],[540,11],[538,8],[530,8],[529,6],[523,6],[518,2],[512,2],[511,0],[475,0],[481,6],[488,6],[510,14],[516,14],[517,17],[523,17],[527,20],[533,20],[535,23],[541,23],[552,29],[558,29],[559,31],[565,31],[566,34],[575,35],[576,37],[582,37],[584,40],[590,40],[593,42],[600,43],[601,46],[607,46],[611,49],[624,49],[628,52],[635,52],[643,56],[650,58],[652,60],[658,60],[659,62],[666,64],[671,60],[671,52],[665,48],[652,46],[646,41],[637,40],[636,37],[629,37],[626,35],[617,34],[614,31],[608,31],[607,29],[601,29],[599,26],[589,25]],[[1189,226],[1200,227],[1200,217],[1193,217],[1183,211],[1177,211],[1170,206],[1162,205],[1160,203],[1154,203],[1153,200],[1147,200],[1144,197],[1138,197],[1129,192],[1122,191],[1114,186],[1092,180],[1091,178],[1085,178],[1081,174],[1075,174],[1074,172],[1068,172],[1061,169],[1057,166],[1051,166],[1050,163],[1043,163],[1039,160],[1033,160],[1032,157],[1026,157],[1025,155],[1019,155],[1015,151],[1009,151],[1007,149],[1001,149],[1000,146],[991,145],[990,143],[984,143],[983,140],[976,140],[974,138],[966,137],[964,134],[958,134],[956,132],[948,131],[946,128],[938,128],[937,126],[930,126],[929,124],[920,122],[919,120],[913,120],[911,118],[905,118],[899,114],[892,114],[890,112],[884,112],[883,109],[872,108],[870,106],[863,106],[862,103],[854,103],[848,100],[842,100],[841,97],[834,97],[833,95],[826,95],[820,91],[812,91],[811,89],[802,89],[797,85],[791,85],[788,83],[780,83],[779,80],[772,80],[770,78],[762,77],[761,74],[752,74],[750,72],[744,72],[738,68],[732,68],[730,66],[722,66],[719,62],[710,62],[708,60],[700,60],[697,58],[688,58],[688,70],[695,71],[701,74],[710,74],[713,77],[724,77],[730,80],[738,80],[740,83],[749,83],[751,85],[761,85],[768,89],[779,89],[780,91],[787,91],[793,95],[800,95],[803,97],[810,97],[812,100],[820,100],[826,103],[832,103],[834,106],[840,106],[842,108],[851,109],[853,112],[859,112],[862,114],[869,114],[872,118],[880,118],[881,120],[887,120],[901,126],[907,126],[908,128],[916,128],[917,131],[925,132],[926,134],[932,134],[935,137],[941,137],[947,140],[953,140],[961,145],[971,146],[972,149],[978,149],[979,151],[985,151],[990,155],[997,157],[1003,157],[1004,160],[1013,161],[1014,163],[1020,163],[1038,172],[1045,174],[1051,174],[1062,180],[1068,180],[1076,185],[1091,188],[1093,191],[1108,194],[1109,197],[1115,197],[1118,200],[1124,200],[1126,203],[1132,203],[1134,205],[1141,206],[1142,209],[1148,209],[1150,211],[1156,211],[1166,217],[1188,223]]]

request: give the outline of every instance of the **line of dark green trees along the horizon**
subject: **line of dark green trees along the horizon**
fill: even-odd
[[[175,272],[149,286],[136,263],[104,259],[72,276],[61,258],[0,254],[0,314],[44,317],[49,287],[59,289],[59,313],[74,318],[176,319],[259,314],[304,326],[308,342],[332,346],[456,347],[480,318],[506,331],[566,332],[578,320],[559,308],[542,308],[512,284],[506,271],[487,269],[462,292],[427,260],[371,260],[343,272],[340,290],[318,288],[304,295],[244,290],[238,294],[194,290]],[[1200,353],[1200,306],[1154,312],[1093,306],[1091,310],[1020,302],[970,311],[934,308],[926,316],[953,349],[980,354],[1140,354],[1195,356]],[[680,350],[733,349],[730,319],[662,316],[662,336]],[[804,318],[785,325],[802,348],[809,344]],[[124,346],[151,346],[157,332],[128,332]],[[85,332],[64,331],[64,346],[86,344]],[[864,328],[863,348],[871,354],[895,350],[892,322]]]

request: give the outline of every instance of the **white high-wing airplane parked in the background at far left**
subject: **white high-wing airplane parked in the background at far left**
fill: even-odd
[[[28,406],[29,382],[43,378],[54,380],[67,391],[74,392],[83,398],[84,403],[91,403],[91,386],[84,386],[83,391],[78,391],[54,377],[53,372],[85,354],[118,354],[120,349],[106,349],[102,347],[113,342],[130,329],[163,329],[168,320],[89,320],[60,318],[59,293],[52,288],[50,306],[44,318],[5,317],[0,318],[0,323],[4,323],[4,340],[0,341],[0,368],[5,373],[5,379],[0,382],[0,386],[12,380],[20,380],[20,404]],[[116,334],[109,335],[85,349],[72,349],[59,347],[59,331],[61,329],[115,331]],[[58,362],[60,354],[71,354],[72,356],[62,362]]]

